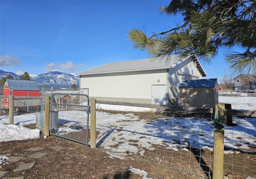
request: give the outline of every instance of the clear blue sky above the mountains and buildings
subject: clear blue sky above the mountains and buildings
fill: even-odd
[[[128,30],[149,35],[176,27],[181,16],[161,15],[158,6],[170,1],[1,0],[0,68],[6,72],[74,74],[107,63],[148,58],[132,48]],[[222,78],[228,65],[222,52],[206,78]]]

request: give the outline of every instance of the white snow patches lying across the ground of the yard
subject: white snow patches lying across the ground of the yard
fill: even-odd
[[[220,103],[230,103],[232,109],[256,110],[256,97],[219,96]],[[117,105],[100,105],[98,109],[116,109],[119,111],[149,111],[149,108],[129,107]],[[67,114],[67,119],[72,118],[72,113]],[[67,120],[64,119],[64,120]],[[80,125],[86,125],[77,121]],[[236,149],[248,149],[256,146],[256,118],[233,117],[236,126],[225,127],[226,153],[233,153]],[[28,129],[25,125],[36,123],[36,114],[14,116],[14,124],[9,125],[8,116],[0,116],[0,141],[26,140],[40,137],[39,129]],[[153,145],[164,145],[166,149],[178,150],[187,146],[213,149],[214,126],[211,119],[195,119],[193,117],[176,119],[174,117],[158,118],[151,123],[146,119],[139,119],[136,113],[110,114],[96,112],[96,128],[100,131],[97,144],[107,149],[110,157],[123,159],[129,151],[144,155],[144,148],[154,150]],[[111,127],[112,126],[112,127]],[[114,126],[114,127],[113,127]],[[122,129],[122,130],[120,130]],[[69,131],[68,131],[69,130]],[[74,129],[72,129],[74,130]],[[70,127],[63,127],[61,131],[72,132]],[[132,142],[134,141],[134,142]],[[246,142],[245,142],[246,141]],[[134,145],[136,144],[136,145]],[[112,147],[117,146],[118,147]],[[136,147],[140,146],[140,147]],[[8,158],[0,155],[0,163]],[[130,168],[132,172],[139,169]],[[146,179],[146,172],[143,173]]]

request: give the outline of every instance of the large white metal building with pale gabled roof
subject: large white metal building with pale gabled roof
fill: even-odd
[[[80,88],[97,100],[178,105],[183,80],[206,76],[196,56],[166,56],[105,64],[80,72]]]

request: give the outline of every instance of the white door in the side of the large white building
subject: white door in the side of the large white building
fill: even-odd
[[[152,101],[152,104],[166,105],[166,86],[165,85],[152,85],[151,101]]]

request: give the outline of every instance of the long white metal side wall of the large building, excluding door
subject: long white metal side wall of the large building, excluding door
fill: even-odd
[[[167,81],[166,69],[145,70],[81,76],[80,87],[89,88],[93,97],[151,99],[151,85],[166,85]]]

